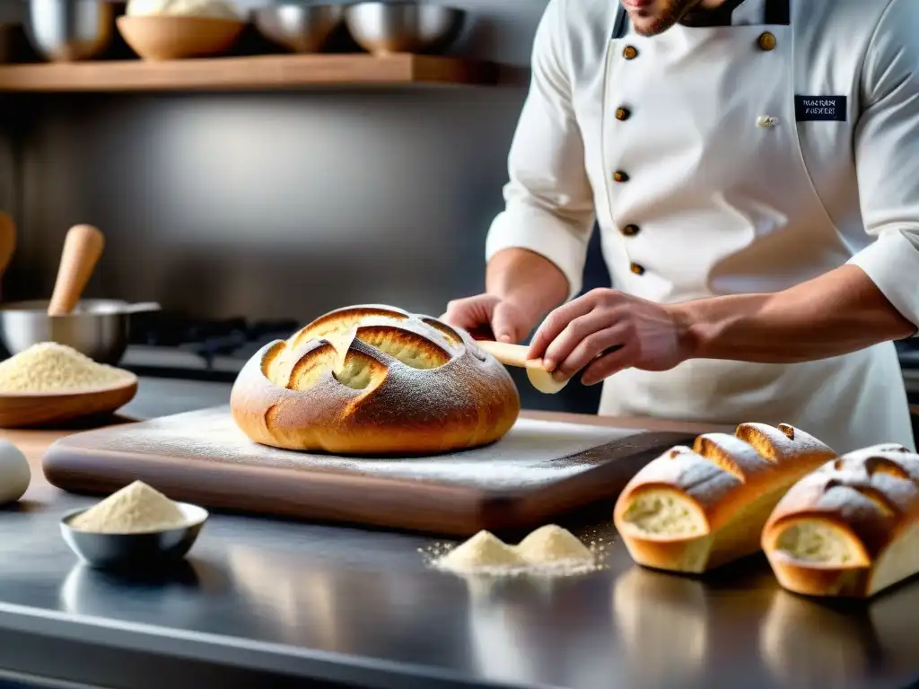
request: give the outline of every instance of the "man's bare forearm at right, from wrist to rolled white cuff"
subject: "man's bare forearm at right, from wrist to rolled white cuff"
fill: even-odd
[[[776,294],[698,299],[670,310],[690,358],[810,361],[916,330],[854,265]]]

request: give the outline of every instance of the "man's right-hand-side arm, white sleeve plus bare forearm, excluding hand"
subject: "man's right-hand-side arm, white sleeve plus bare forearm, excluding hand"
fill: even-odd
[[[874,243],[776,294],[670,307],[689,356],[766,363],[839,356],[919,325],[919,2],[891,0],[868,46],[855,158]]]

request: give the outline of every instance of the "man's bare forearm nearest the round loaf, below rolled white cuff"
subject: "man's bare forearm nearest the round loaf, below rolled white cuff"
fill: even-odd
[[[555,264],[526,249],[494,254],[485,273],[485,290],[513,301],[538,322],[568,297],[568,280]]]

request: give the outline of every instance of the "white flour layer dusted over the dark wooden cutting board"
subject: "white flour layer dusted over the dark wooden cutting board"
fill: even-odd
[[[94,446],[109,452],[510,488],[548,483],[591,469],[595,462],[565,457],[637,433],[521,418],[494,445],[464,452],[437,457],[337,457],[256,445],[233,423],[229,408],[218,408],[110,428],[105,440],[100,437]]]

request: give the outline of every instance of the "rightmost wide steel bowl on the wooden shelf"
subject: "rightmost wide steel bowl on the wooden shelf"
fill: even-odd
[[[374,53],[446,51],[465,22],[464,10],[416,2],[363,2],[345,9],[351,37]]]

